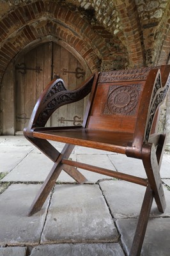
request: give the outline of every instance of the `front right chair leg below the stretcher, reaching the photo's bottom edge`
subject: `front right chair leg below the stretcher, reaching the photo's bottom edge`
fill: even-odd
[[[141,254],[141,249],[143,246],[143,240],[148,225],[152,202],[153,190],[150,188],[149,185],[147,186],[144,195],[143,205],[141,207],[141,212],[139,214],[139,220],[137,223],[137,228],[135,230],[135,236],[132,242],[132,247],[130,249],[129,256],[139,256]]]

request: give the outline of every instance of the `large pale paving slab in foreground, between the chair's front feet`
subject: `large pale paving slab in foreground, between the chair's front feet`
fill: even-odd
[[[118,233],[98,185],[56,185],[41,243],[110,243]]]

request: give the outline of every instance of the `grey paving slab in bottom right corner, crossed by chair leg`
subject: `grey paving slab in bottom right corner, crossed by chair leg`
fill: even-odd
[[[125,251],[129,253],[134,237],[137,220],[116,221],[121,233],[121,241]],[[170,219],[155,218],[148,221],[141,256],[169,256],[170,252]]]

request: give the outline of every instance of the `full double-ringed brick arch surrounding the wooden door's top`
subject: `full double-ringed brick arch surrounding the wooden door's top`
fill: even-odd
[[[80,13],[54,1],[47,4],[40,0],[15,8],[0,21],[0,28],[3,28],[0,79],[19,51],[47,35],[56,36],[71,45],[86,60],[92,72],[100,69],[102,60],[111,62],[112,54],[116,53],[115,49],[107,47],[105,39],[91,28],[85,18],[82,19]]]

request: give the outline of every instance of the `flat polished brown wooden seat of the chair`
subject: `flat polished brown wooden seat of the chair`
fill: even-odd
[[[102,130],[84,129],[76,127],[71,129],[36,129],[34,138],[54,140],[63,143],[93,147],[125,154],[128,143],[132,143],[133,134],[127,132],[111,132]]]

